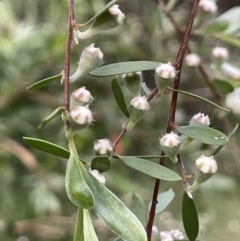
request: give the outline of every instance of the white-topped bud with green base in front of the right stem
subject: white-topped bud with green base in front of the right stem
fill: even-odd
[[[172,162],[176,163],[178,161],[176,155],[180,148],[179,136],[173,132],[167,133],[160,139],[160,145]]]

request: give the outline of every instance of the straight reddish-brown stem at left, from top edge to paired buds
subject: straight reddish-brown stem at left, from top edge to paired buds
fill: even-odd
[[[68,22],[68,38],[66,45],[65,64],[64,64],[64,107],[69,112],[69,74],[70,74],[70,56],[74,26],[74,0],[69,0],[69,22]],[[65,129],[69,130],[69,122],[65,122]]]

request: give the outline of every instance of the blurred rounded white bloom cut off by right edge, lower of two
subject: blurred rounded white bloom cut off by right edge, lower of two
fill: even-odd
[[[225,103],[234,114],[240,115],[240,87],[227,94]]]

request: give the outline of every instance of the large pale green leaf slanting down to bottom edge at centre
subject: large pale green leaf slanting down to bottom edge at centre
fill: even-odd
[[[147,241],[146,231],[136,216],[89,172],[84,178],[94,197],[94,211],[123,240]]]

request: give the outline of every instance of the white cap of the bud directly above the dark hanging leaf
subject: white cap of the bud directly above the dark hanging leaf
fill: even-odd
[[[198,170],[204,174],[213,174],[217,171],[217,162],[214,160],[213,156],[200,156],[196,160],[196,166]]]

